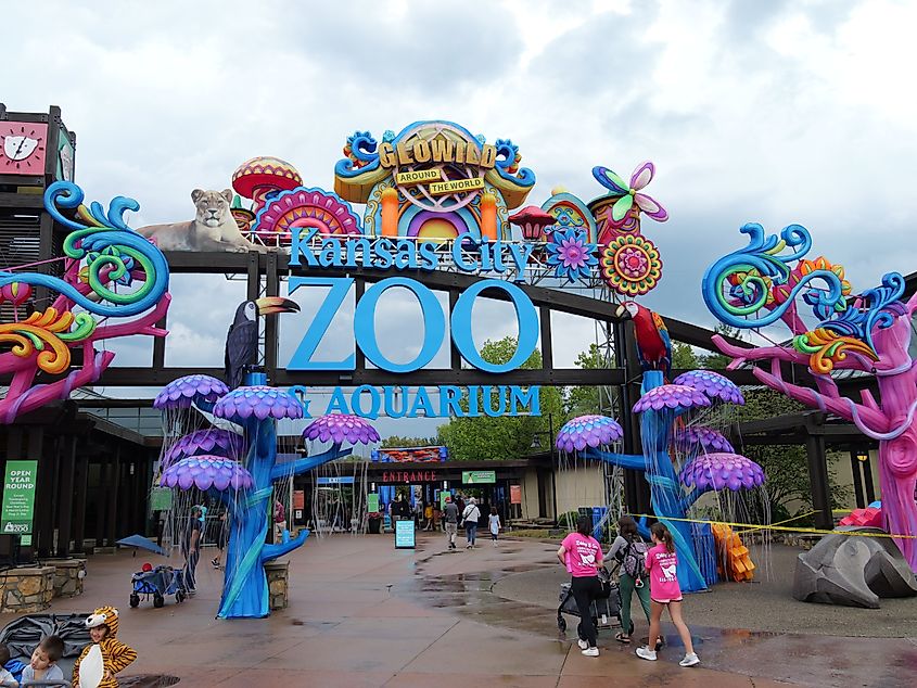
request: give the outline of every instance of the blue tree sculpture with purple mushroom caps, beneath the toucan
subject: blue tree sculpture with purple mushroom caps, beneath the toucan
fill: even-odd
[[[194,406],[237,425],[240,433],[222,429],[199,430],[181,437],[164,455],[161,484],[178,489],[198,488],[221,500],[227,508],[229,545],[226,574],[217,616],[267,616],[268,585],[264,564],[282,557],[306,540],[308,531],[275,545],[265,544],[273,508],[273,483],[322,463],[345,457],[344,443],[370,444],[379,433],[364,419],[328,416],[313,421],[304,436],[330,441],[330,449],[292,462],[277,462],[277,421],[303,418],[302,404],[281,390],[257,384],[263,374],[250,374],[247,386],[229,391],[208,375],[188,375],[168,385],[154,406],[168,410]],[[166,461],[166,459],[168,459]]]

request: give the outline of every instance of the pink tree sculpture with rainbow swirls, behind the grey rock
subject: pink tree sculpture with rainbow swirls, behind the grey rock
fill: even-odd
[[[902,301],[905,283],[897,272],[854,294],[843,267],[823,256],[806,257],[812,238],[801,225],[785,227],[779,235],[766,234],[757,224],[739,231],[749,238],[748,245],[706,269],[703,300],[730,327],[781,321],[792,340],[787,345],[749,348],[719,336],[713,337],[714,343],[731,357],[730,367],[768,362],[753,368],[762,384],[850,421],[879,443],[882,523],[917,571],[917,367],[912,357],[917,295]],[[816,385],[786,381],[781,362],[807,368]],[[868,387],[859,403],[842,396],[831,378],[835,370],[874,375],[880,400]]]

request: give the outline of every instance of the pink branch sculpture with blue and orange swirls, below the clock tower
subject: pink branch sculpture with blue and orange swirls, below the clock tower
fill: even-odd
[[[86,206],[82,201],[82,190],[68,181],[54,182],[44,192],[46,209],[68,230],[62,277],[15,267],[0,270],[0,304],[9,303],[13,314],[12,321],[0,321],[0,377],[12,378],[0,398],[0,423],[98,382],[115,354],[97,349],[97,342],[166,335],[155,323],[169,306],[168,265],[124,219],[140,205],[117,196],[105,212],[98,202]],[[36,288],[56,297],[21,319],[20,309]],[[69,370],[77,348],[82,349],[82,365]],[[35,384],[39,373],[52,381]]]

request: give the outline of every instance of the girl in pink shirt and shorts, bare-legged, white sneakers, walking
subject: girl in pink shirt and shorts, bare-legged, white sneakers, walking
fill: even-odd
[[[654,547],[647,551],[647,574],[650,578],[650,637],[648,645],[637,648],[637,657],[654,662],[659,640],[659,626],[662,610],[668,608],[672,623],[685,644],[685,658],[678,662],[682,666],[700,664],[691,645],[691,633],[682,619],[682,588],[678,586],[678,558],[675,555],[675,543],[672,533],[662,523],[653,523],[650,528]]]

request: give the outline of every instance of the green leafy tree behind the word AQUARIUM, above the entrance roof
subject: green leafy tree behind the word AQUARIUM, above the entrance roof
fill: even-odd
[[[507,336],[498,341],[484,343],[481,356],[492,364],[505,364],[515,353],[515,337]],[[535,369],[542,367],[542,354],[536,351],[520,368]],[[493,394],[497,394],[494,385]],[[438,444],[449,449],[449,456],[459,461],[476,459],[518,459],[531,451],[532,441],[536,433],[552,430],[557,433],[564,422],[563,398],[557,387],[542,387],[539,392],[542,416],[501,416],[491,418],[451,418],[441,425],[437,432]],[[483,400],[483,399],[482,399]],[[480,403],[480,402],[479,402]],[[493,406],[497,406],[496,397]],[[462,410],[468,411],[468,400],[460,403]],[[551,423],[553,428],[551,428]],[[546,441],[542,439],[542,446]]]

